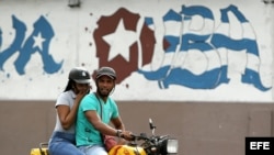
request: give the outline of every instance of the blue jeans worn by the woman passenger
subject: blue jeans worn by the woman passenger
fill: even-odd
[[[53,133],[48,143],[48,152],[50,155],[84,155],[76,146],[76,135],[62,132]]]

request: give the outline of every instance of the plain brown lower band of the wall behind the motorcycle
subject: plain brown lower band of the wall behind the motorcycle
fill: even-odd
[[[0,101],[1,154],[30,154],[48,141],[55,101]],[[128,130],[171,134],[180,155],[243,155],[246,136],[273,136],[272,103],[118,101]]]

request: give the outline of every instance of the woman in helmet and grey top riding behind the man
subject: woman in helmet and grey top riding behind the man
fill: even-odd
[[[50,155],[84,155],[76,146],[75,122],[80,101],[90,91],[90,74],[83,67],[75,67],[68,79],[55,104],[56,124],[48,142]]]

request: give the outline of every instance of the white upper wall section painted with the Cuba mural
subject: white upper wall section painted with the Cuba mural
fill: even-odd
[[[153,15],[122,2],[105,12],[67,8],[64,14],[71,16],[65,21],[47,9],[31,20],[24,20],[27,12],[2,14],[11,24],[0,22],[0,85],[34,92],[8,95],[2,89],[0,99],[55,99],[71,67],[84,66],[93,76],[96,68],[112,66],[118,100],[272,101],[271,36],[258,30],[271,23],[253,22],[264,20],[263,3],[251,2],[261,5],[255,15],[241,1],[180,2],[179,8],[150,3],[162,11]]]

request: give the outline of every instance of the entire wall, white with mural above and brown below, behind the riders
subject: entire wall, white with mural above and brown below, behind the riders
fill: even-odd
[[[0,1],[1,154],[49,139],[75,66],[114,67],[127,129],[149,133],[152,118],[181,155],[243,155],[246,136],[274,136],[271,3]]]

